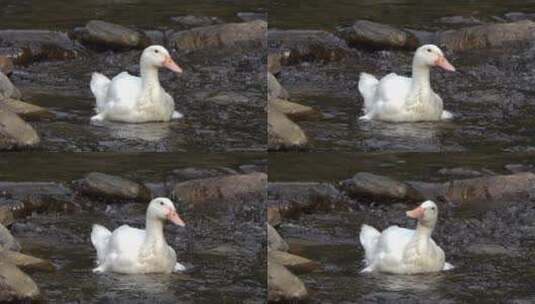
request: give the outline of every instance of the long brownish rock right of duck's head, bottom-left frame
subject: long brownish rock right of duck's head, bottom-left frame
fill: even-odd
[[[173,197],[192,207],[213,200],[228,201],[249,195],[265,197],[266,187],[265,173],[236,174],[178,183]]]

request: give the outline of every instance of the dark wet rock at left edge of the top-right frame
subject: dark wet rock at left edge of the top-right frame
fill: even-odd
[[[270,30],[269,48],[287,53],[284,64],[303,61],[338,61],[350,54],[346,42],[335,35],[317,30]]]

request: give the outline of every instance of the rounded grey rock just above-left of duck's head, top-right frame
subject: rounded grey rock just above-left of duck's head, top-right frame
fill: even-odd
[[[413,50],[419,45],[418,39],[408,31],[367,20],[340,29],[339,35],[354,47]]]

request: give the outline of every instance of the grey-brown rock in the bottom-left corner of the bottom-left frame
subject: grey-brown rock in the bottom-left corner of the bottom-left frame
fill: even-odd
[[[30,302],[39,297],[35,282],[17,266],[0,260],[0,302]]]

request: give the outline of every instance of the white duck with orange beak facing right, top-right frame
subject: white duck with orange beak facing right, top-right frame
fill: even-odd
[[[436,121],[451,119],[444,111],[442,99],[431,88],[429,72],[439,66],[455,71],[436,45],[419,47],[412,61],[412,78],[391,73],[377,80],[373,75],[360,74],[359,92],[364,98],[362,120],[391,122]]]

